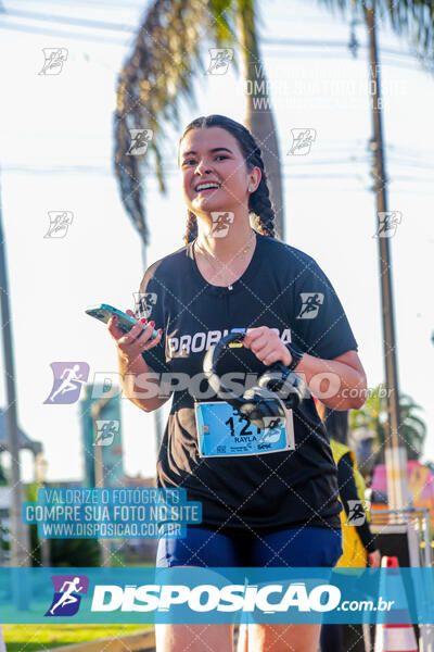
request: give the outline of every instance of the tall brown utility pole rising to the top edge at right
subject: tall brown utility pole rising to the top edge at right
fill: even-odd
[[[399,431],[399,385],[395,352],[395,315],[392,291],[392,262],[388,244],[390,239],[388,237],[381,237],[380,235],[381,229],[385,226],[384,221],[381,222],[380,220],[380,213],[387,213],[387,176],[383,146],[380,64],[375,33],[375,0],[372,0],[371,9],[366,10],[366,21],[368,26],[370,51],[370,82],[373,126],[371,147],[373,151],[373,177],[375,179],[374,190],[376,197],[378,240],[380,256],[383,352],[387,389],[387,427],[385,437],[387,497],[390,507],[392,510],[399,510],[409,506],[410,498],[407,490],[407,448],[405,439]]]

